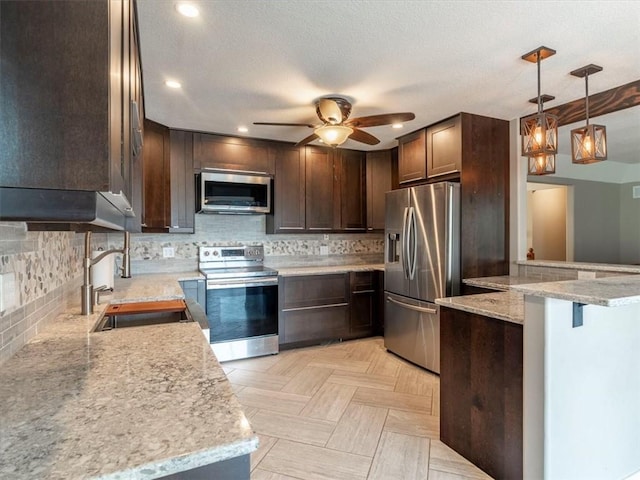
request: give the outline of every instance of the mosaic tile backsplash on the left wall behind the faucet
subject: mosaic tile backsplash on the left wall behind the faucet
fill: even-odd
[[[29,232],[25,223],[0,222],[0,364],[80,295],[83,235]],[[106,247],[96,234],[92,247]]]

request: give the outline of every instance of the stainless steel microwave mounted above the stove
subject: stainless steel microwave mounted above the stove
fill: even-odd
[[[271,212],[271,177],[268,175],[204,170],[198,191],[201,213]]]

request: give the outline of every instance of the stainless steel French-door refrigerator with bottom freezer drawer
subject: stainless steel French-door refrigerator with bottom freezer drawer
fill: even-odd
[[[386,193],[384,345],[440,373],[436,298],[460,288],[460,185],[440,182]]]

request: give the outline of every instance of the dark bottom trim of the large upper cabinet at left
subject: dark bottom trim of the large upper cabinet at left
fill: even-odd
[[[0,187],[0,221],[47,224],[47,230],[124,230],[133,216],[122,192]]]

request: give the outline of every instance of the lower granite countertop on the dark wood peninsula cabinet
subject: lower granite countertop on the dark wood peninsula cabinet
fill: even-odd
[[[436,304],[513,323],[524,323],[522,293],[508,291],[436,298]]]

